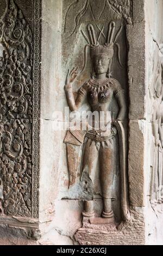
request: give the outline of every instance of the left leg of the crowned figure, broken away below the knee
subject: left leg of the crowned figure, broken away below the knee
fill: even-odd
[[[96,168],[97,157],[98,150],[96,148],[96,144],[94,141],[91,141],[91,139],[88,139],[84,148],[82,172],[85,168],[87,168],[89,176],[91,176],[92,172]],[[93,210],[93,200],[85,201],[83,216],[93,217],[94,215],[95,213]]]

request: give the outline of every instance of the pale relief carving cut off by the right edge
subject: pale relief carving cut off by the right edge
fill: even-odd
[[[153,81],[153,147],[152,147],[152,175],[151,175],[151,205],[155,207],[158,203],[163,203],[163,63],[161,60],[154,63],[154,81]]]

